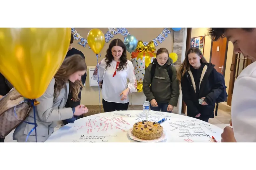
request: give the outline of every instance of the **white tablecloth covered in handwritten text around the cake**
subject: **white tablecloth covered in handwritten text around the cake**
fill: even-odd
[[[213,125],[189,117],[177,117],[169,113],[149,112],[148,121],[159,121],[166,118],[161,123],[167,132],[168,141],[177,142],[214,142],[219,134],[219,130]],[[83,118],[82,123],[74,124],[71,128],[77,132],[72,142],[121,142],[130,140],[126,133],[134,123],[146,120],[146,115],[142,112],[137,114],[114,113],[109,116],[94,116]],[[216,136],[215,136],[216,135]],[[220,139],[219,139],[220,140]],[[217,141],[219,141],[217,139]]]

